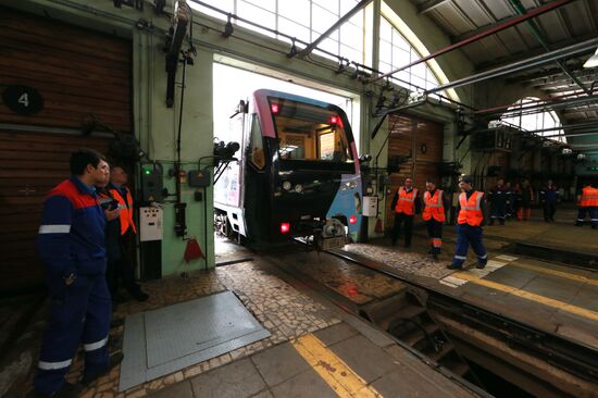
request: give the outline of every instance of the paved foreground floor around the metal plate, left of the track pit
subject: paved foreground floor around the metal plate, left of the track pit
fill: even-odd
[[[123,393],[117,390],[117,366],[87,388],[83,397],[320,397],[346,396],[347,391],[352,396],[396,396],[397,390],[438,397],[476,395],[465,382],[443,375],[387,335],[281,273],[267,259],[153,281],[145,283],[144,289],[149,300],[120,304],[114,319],[228,289],[272,335]],[[393,285],[388,285],[385,291],[391,290]],[[8,384],[9,397],[30,391],[43,324],[41,312],[35,327],[26,332],[29,361],[22,366],[25,369],[7,380],[8,368],[4,363],[0,366],[0,381]],[[123,326],[111,329],[112,351],[122,349],[122,335]],[[75,358],[70,382],[80,378],[82,357],[79,352]],[[22,356],[11,352],[11,358],[16,363]]]

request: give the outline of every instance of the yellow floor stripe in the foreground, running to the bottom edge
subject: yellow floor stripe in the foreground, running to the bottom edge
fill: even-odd
[[[303,335],[291,344],[339,397],[382,397],[313,334]]]

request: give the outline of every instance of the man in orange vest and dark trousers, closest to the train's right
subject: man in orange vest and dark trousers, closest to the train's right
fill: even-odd
[[[413,179],[404,178],[404,186],[399,187],[390,209],[395,209],[395,225],[393,227],[393,246],[399,239],[401,224],[404,222],[404,247],[411,247],[411,235],[413,234],[413,216],[420,212],[421,202],[418,197],[418,188],[413,187]]]

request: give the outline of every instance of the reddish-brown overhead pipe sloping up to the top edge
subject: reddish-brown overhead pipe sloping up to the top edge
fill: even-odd
[[[451,45],[451,46],[448,46],[448,47],[445,47],[444,49],[440,49],[438,51],[435,51],[433,53],[431,53],[429,55],[426,55],[418,61],[414,61],[414,62],[411,62],[404,66],[401,66],[399,69],[396,69],[395,71],[393,72],[388,72],[388,73],[385,73],[381,76],[378,76],[377,78],[373,79],[372,82],[377,82],[382,78],[385,78],[385,77],[388,77],[388,76],[391,76],[394,75],[395,73],[397,72],[400,72],[400,71],[403,71],[408,67],[411,67],[411,66],[414,66],[414,65],[418,65],[422,62],[426,62],[426,61],[429,61],[438,55],[443,55],[443,54],[446,54],[447,52],[450,52],[452,50],[457,50],[463,46],[466,46],[469,45],[470,42],[474,42],[474,41],[477,41],[477,40],[481,40],[483,39],[484,37],[488,37],[490,35],[494,35],[498,32],[501,32],[501,30],[504,30],[511,26],[515,26],[518,24],[521,24],[522,22],[524,21],[527,21],[534,16],[538,16],[540,14],[544,14],[548,11],[552,11],[559,7],[562,7],[562,5],[565,5],[565,4],[569,4],[570,2],[573,2],[575,0],[557,0],[557,1],[553,1],[551,3],[548,3],[546,5],[543,5],[543,7],[538,7],[537,9],[534,9],[533,11],[531,11],[530,13],[525,14],[525,15],[521,15],[521,16],[518,16],[518,17],[514,17],[512,20],[509,20],[509,21],[506,21],[503,23],[500,23],[500,24],[497,24],[484,32],[481,32],[479,34],[475,35],[475,36],[472,36],[470,38],[466,38],[464,40],[461,40],[459,42],[456,42],[454,45]]]

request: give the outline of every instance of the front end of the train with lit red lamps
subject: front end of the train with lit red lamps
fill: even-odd
[[[270,90],[257,91],[254,100],[271,163],[269,240],[306,237],[322,249],[357,241],[361,176],[346,113]]]

